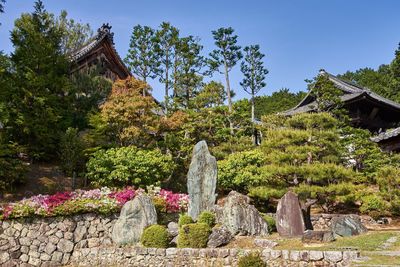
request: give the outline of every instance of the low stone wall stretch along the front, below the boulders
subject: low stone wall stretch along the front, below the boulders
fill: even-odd
[[[74,251],[71,264],[73,266],[237,266],[239,258],[249,253],[259,253],[268,266],[349,266],[350,261],[359,256],[356,251],[102,247]]]

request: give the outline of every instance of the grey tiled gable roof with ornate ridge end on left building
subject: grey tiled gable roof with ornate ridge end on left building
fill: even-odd
[[[94,51],[96,51],[100,46],[107,44],[107,47],[110,48],[110,53],[112,60],[119,68],[121,79],[126,78],[127,76],[131,76],[130,71],[125,66],[121,57],[119,56],[117,50],[114,46],[114,33],[111,32],[111,26],[107,24],[103,24],[98,30],[97,35],[90,39],[83,47],[77,49],[72,52],[70,59],[79,64],[80,61],[83,61],[86,57],[90,56]]]

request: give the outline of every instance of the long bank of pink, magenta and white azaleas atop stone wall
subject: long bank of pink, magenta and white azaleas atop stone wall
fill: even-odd
[[[58,192],[54,195],[36,195],[15,203],[0,207],[0,219],[23,218],[32,216],[67,216],[85,212],[118,212],[129,200],[140,194],[165,200],[167,213],[183,212],[187,209],[188,196],[164,189],[145,190],[133,187],[112,190],[108,187],[92,190]]]

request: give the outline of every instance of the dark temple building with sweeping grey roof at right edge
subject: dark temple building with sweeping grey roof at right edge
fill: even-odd
[[[384,98],[368,88],[339,79],[321,70],[342,91],[340,99],[348,111],[354,127],[368,129],[375,136],[372,140],[387,151],[400,151],[400,104]],[[294,108],[284,112],[294,115],[304,112],[316,112],[317,103],[311,91]]]

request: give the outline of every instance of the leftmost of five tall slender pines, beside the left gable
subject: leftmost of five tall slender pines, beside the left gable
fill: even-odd
[[[125,58],[132,73],[144,82],[147,82],[147,78],[156,78],[160,72],[159,59],[155,30],[141,25],[133,27],[128,54]]]

